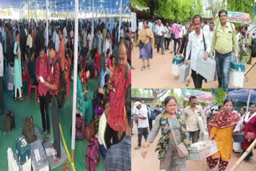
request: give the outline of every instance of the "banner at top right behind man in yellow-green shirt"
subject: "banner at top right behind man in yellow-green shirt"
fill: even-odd
[[[250,14],[227,11],[227,19],[229,22],[250,22]]]

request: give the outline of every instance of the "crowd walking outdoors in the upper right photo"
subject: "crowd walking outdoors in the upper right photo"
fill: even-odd
[[[247,25],[235,28],[233,23],[227,22],[227,11],[218,12],[220,24],[210,22],[209,25],[196,14],[191,23],[182,25],[178,21],[162,23],[161,20],[138,22],[138,46],[139,58],[142,59],[142,70],[150,70],[150,59],[153,58],[153,50],[160,48],[162,54],[170,50],[170,42],[174,57],[184,57],[184,64],[190,61],[191,77],[196,89],[202,88],[202,82],[207,82],[197,72],[198,58],[214,58],[218,76],[218,88],[226,89],[230,82],[230,64],[233,61],[242,62],[249,69],[252,62],[252,39],[255,38],[255,30],[248,30]],[[249,32],[250,31],[250,32]],[[178,47],[177,47],[178,45]],[[246,74],[245,82],[249,82],[249,74]]]

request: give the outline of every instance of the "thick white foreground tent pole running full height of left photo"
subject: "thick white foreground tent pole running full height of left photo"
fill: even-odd
[[[73,110],[72,110],[72,139],[71,139],[71,161],[74,162],[75,149],[75,118],[77,104],[77,79],[78,79],[78,0],[75,0],[74,15],[74,91],[73,91]]]

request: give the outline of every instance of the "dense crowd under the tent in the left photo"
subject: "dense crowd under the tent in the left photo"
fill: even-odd
[[[70,101],[70,80],[74,78],[74,72],[78,72],[77,114],[84,118],[86,126],[94,122],[94,126],[99,128],[95,129],[98,130],[100,152],[106,158],[104,169],[130,169],[130,153],[126,151],[119,153],[126,155],[126,160],[115,162],[120,157],[115,149],[130,148],[130,107],[127,106],[130,104],[133,44],[130,23],[121,24],[121,31],[118,33],[119,23],[110,26],[104,22],[94,22],[93,25],[91,20],[79,20],[78,47],[74,47],[72,20],[51,21],[48,32],[46,21],[38,21],[37,24],[25,20],[0,21],[2,113],[6,112],[4,90],[14,90],[14,102],[18,102],[24,101],[24,81],[35,85],[38,89],[38,99],[35,101],[39,101],[42,115],[41,133],[46,135],[46,141],[50,140],[50,133],[54,133],[54,144],[51,148],[56,150],[55,162],[61,158],[58,113],[62,110],[58,96],[62,87],[66,87],[66,96]],[[75,48],[78,48],[77,71],[72,70]],[[66,85],[63,85],[62,75]],[[94,97],[90,99],[87,93],[94,90],[86,82],[90,78],[96,78],[96,75],[98,87]],[[50,128],[50,106],[53,129]]]

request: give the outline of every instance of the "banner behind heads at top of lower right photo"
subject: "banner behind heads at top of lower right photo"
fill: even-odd
[[[191,96],[198,98],[198,102],[210,103],[213,100],[213,94],[211,92],[199,91],[195,89],[183,89],[183,101],[189,101]]]

